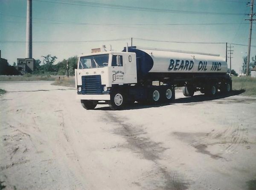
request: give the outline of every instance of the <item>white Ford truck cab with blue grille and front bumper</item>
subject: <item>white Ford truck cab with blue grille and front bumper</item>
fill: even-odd
[[[137,83],[136,54],[110,51],[81,55],[75,80],[78,99],[110,101],[113,85]]]

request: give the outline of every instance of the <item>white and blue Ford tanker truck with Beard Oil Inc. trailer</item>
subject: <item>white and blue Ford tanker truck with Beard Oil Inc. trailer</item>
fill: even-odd
[[[116,110],[135,101],[170,103],[175,87],[182,87],[185,96],[196,91],[215,96],[232,89],[227,62],[219,55],[137,46],[120,52],[92,49],[79,56],[75,81],[85,109],[109,104]]]

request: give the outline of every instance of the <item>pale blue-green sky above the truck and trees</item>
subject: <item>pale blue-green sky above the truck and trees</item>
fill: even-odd
[[[227,42],[246,45],[231,45],[232,69],[239,73],[248,49],[249,21],[244,20],[249,18],[245,14],[250,13],[247,2],[32,0],[33,58],[42,60],[41,56],[55,55],[57,63],[71,56],[89,54],[92,48],[102,45],[122,51],[127,43],[131,45],[131,37],[134,46],[225,57]],[[26,55],[26,3],[27,0],[0,0],[1,57],[11,65]],[[255,25],[256,21],[250,57],[256,55]],[[171,43],[174,41],[179,43]]]

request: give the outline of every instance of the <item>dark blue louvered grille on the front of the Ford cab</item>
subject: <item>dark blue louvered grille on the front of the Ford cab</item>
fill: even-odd
[[[102,91],[101,75],[82,76],[82,94],[100,94]]]

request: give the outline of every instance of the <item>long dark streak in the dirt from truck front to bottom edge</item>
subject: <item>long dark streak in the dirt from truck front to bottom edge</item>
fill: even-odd
[[[161,180],[152,182],[154,189],[163,190],[186,190],[188,189],[188,183],[183,182],[176,171],[168,171],[166,167],[159,163],[160,154],[167,148],[162,147],[161,143],[152,141],[150,138],[145,137],[146,132],[142,130],[142,127],[134,127],[132,124],[125,123],[125,118],[117,117],[113,115],[113,112],[105,112],[108,121],[117,124],[119,127],[113,132],[117,135],[121,135],[128,142],[128,148],[132,149],[135,153],[139,153],[144,159],[154,162],[155,170],[150,170],[143,174],[142,178],[138,180],[143,181],[154,176],[161,175]],[[143,135],[143,136],[142,136]],[[162,180],[163,179],[163,180]],[[155,180],[155,179],[154,179]],[[136,184],[140,184],[135,182]]]

